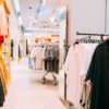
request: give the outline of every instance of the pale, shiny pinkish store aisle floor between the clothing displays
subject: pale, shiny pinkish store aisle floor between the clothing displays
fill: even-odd
[[[57,87],[40,83],[41,72],[32,72],[27,62],[12,63],[12,81],[4,107],[1,109],[66,109]]]

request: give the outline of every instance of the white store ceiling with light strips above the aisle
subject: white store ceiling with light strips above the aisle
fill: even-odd
[[[57,13],[57,4],[58,0],[19,0],[14,5],[23,28],[31,32],[35,28],[59,29],[59,20],[52,19]]]

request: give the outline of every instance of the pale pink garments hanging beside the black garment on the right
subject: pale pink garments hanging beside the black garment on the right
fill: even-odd
[[[97,45],[78,44],[71,46],[64,63],[66,73],[66,100],[80,109],[82,78],[86,75],[94,49]]]

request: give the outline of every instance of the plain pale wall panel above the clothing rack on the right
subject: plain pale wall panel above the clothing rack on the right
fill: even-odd
[[[105,33],[105,0],[73,0],[72,35],[82,33]]]

